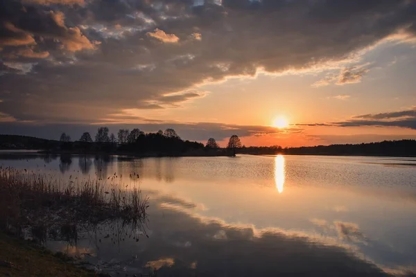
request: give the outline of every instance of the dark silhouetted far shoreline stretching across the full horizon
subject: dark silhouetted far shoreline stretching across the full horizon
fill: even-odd
[[[149,137],[147,137],[148,135]],[[31,136],[0,135],[0,150],[40,150],[42,154],[125,155],[133,157],[232,157],[234,153],[250,155],[416,157],[416,140],[410,139],[298,148],[281,148],[278,145],[270,147],[209,148],[202,143],[183,141],[178,137],[169,138],[157,134],[146,134],[144,138],[147,138],[148,141],[119,144],[52,141]]]

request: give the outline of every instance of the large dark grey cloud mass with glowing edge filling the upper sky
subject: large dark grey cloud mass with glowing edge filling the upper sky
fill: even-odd
[[[0,75],[0,97],[12,91],[0,111],[38,123],[94,122],[123,109],[175,107],[200,97],[188,92],[203,82],[254,76],[260,68],[313,70],[399,30],[415,33],[415,1],[216,3],[1,1],[2,62],[13,69],[30,58],[32,66]],[[338,82],[366,72],[347,68]]]

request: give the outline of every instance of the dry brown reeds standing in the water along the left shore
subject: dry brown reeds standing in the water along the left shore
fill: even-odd
[[[139,175],[130,175],[132,188],[115,173],[104,180],[69,177],[63,182],[41,172],[0,167],[0,227],[36,232],[109,220],[139,226],[146,222],[148,197],[142,197],[138,180]]]

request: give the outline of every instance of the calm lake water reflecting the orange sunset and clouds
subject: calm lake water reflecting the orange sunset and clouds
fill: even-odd
[[[126,186],[130,174],[139,175],[150,204],[145,230],[119,228],[123,235],[114,237],[114,229],[102,226],[80,234],[76,243],[46,242],[114,276],[139,276],[150,268],[157,276],[416,272],[413,158],[1,152],[0,165],[62,180],[115,174]]]

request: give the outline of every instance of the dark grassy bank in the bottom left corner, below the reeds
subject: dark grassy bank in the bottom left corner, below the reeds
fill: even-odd
[[[0,232],[0,276],[87,277],[100,276],[94,271],[76,267],[61,253],[37,246]],[[101,275],[105,276],[105,275]]]

